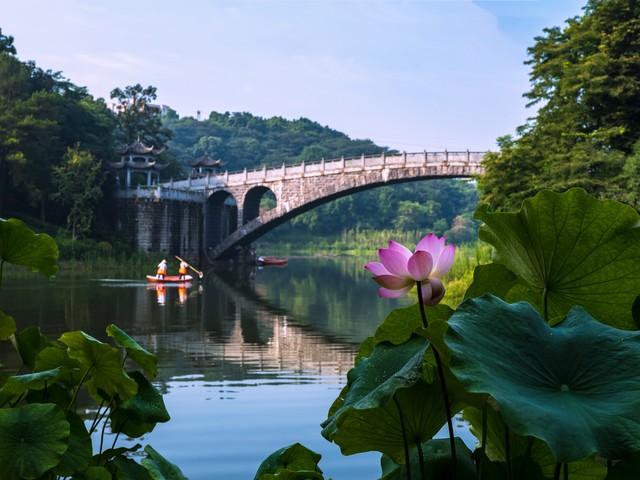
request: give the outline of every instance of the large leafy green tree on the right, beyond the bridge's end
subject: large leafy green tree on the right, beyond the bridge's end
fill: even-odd
[[[590,0],[528,52],[525,97],[540,108],[486,157],[483,200],[511,209],[543,188],[572,186],[617,196],[624,156],[640,140],[640,3]],[[637,204],[638,195],[627,201]]]

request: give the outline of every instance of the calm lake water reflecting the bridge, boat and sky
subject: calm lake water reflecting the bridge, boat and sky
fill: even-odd
[[[379,299],[363,263],[291,259],[285,268],[212,274],[188,289],[137,279],[6,279],[0,307],[19,328],[39,325],[51,336],[82,329],[104,339],[116,323],[156,353],[172,419],[141,443],[191,480],[250,480],[267,455],[297,441],[322,454],[327,477],[375,479],[378,454],[343,457],[319,427],[359,342],[408,302]],[[0,363],[15,366],[3,348]]]

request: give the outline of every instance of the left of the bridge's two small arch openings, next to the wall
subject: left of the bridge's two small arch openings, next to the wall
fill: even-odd
[[[204,243],[206,248],[219,245],[238,227],[238,204],[231,192],[213,192],[205,203]]]

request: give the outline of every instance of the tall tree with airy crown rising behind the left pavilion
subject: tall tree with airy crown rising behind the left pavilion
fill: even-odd
[[[111,98],[118,101],[116,139],[120,143],[129,144],[140,139],[156,148],[166,146],[172,134],[162,125],[160,112],[153,105],[157,98],[156,87],[143,87],[137,83],[124,89],[115,88]]]

